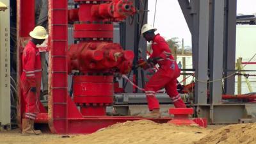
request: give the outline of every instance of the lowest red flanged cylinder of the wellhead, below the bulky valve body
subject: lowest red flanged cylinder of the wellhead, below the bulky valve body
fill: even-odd
[[[84,116],[106,115],[113,104],[113,76],[74,76],[74,102]]]

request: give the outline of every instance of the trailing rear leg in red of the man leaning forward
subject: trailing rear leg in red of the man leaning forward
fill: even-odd
[[[172,99],[175,108],[186,108],[180,94],[177,92],[176,79],[172,79],[168,84],[166,84],[165,89],[169,97]]]

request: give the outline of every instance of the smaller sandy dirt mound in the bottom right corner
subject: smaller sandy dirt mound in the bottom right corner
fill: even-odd
[[[211,131],[207,136],[196,141],[195,144],[255,144],[255,131],[256,124],[227,125],[215,131]]]

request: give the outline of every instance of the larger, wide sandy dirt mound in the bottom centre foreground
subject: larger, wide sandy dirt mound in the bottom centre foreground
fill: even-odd
[[[138,120],[111,125],[93,134],[47,141],[47,144],[192,144],[193,141],[200,140],[208,133],[208,129],[196,126],[176,126],[172,124],[157,124],[150,120]]]

